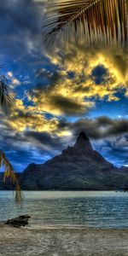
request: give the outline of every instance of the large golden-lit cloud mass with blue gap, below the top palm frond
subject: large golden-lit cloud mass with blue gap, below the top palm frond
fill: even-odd
[[[49,55],[48,55],[49,56]],[[37,110],[57,115],[81,115],[94,108],[96,100],[119,101],[117,92],[125,90],[127,96],[128,55],[123,49],[73,48],[65,55],[49,56],[58,65],[59,79],[46,89],[35,89],[29,99]],[[102,66],[106,73],[96,83],[92,73]],[[70,76],[70,73],[73,74]],[[56,74],[57,75],[57,74]]]

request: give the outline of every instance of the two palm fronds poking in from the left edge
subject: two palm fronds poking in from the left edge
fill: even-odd
[[[3,75],[0,75],[0,107],[4,113],[8,113],[9,108],[11,108],[14,103],[13,92],[9,89],[6,82],[7,79]],[[6,178],[10,177],[10,181],[15,185],[15,201],[20,203],[22,201],[22,195],[18,179],[13,166],[9,163],[8,158],[2,150],[0,150],[0,167],[1,166],[5,169],[4,181]]]

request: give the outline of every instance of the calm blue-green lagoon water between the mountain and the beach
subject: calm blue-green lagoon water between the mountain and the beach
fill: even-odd
[[[24,192],[16,207],[11,191],[0,191],[0,221],[29,214],[31,226],[128,228],[128,193]]]

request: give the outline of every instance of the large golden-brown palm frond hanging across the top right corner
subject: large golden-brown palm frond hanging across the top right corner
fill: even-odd
[[[46,47],[84,42],[126,47],[128,44],[128,0],[48,1],[43,18]]]

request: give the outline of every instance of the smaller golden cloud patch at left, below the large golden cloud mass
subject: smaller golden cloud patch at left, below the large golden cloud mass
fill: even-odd
[[[14,131],[47,131],[57,130],[57,119],[46,119],[37,113],[35,108],[25,107],[22,100],[17,99],[15,107],[8,119],[4,121]]]

